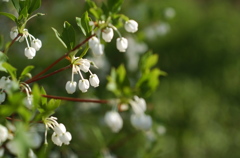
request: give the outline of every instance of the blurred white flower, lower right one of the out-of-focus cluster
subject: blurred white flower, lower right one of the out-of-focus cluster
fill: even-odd
[[[152,126],[152,118],[149,115],[132,114],[131,123],[136,129],[149,130]]]

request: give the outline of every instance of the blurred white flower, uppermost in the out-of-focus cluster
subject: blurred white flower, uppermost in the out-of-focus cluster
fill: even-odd
[[[135,100],[130,100],[129,103],[133,108],[135,114],[142,114],[146,111],[147,105],[143,98],[139,98],[138,96],[134,96]]]

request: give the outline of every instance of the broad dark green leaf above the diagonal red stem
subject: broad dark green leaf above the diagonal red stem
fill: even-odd
[[[75,46],[75,31],[70,23],[67,21],[63,24],[63,32],[61,35],[61,39],[67,45],[68,50],[72,50]]]

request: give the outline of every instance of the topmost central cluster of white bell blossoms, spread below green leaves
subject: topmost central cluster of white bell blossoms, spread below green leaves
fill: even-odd
[[[104,21],[99,22],[100,25],[104,23]],[[135,33],[138,30],[138,23],[135,20],[128,20],[125,22],[124,28],[127,32]],[[116,41],[117,49],[120,52],[125,52],[128,48],[128,40],[122,37],[117,28],[112,24],[108,24],[108,26],[102,30],[102,39],[105,42],[111,42],[114,36],[114,31],[119,35],[119,38],[117,38]],[[102,55],[104,52],[104,45],[101,44],[100,39],[96,36],[89,40],[89,47],[95,55]]]

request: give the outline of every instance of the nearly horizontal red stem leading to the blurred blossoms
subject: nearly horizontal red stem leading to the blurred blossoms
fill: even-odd
[[[51,98],[51,99],[74,101],[74,102],[86,102],[86,103],[106,104],[106,103],[109,102],[108,100],[78,99],[78,98],[70,98],[70,97],[59,97],[59,96],[53,96],[53,95],[42,95],[42,97]]]

